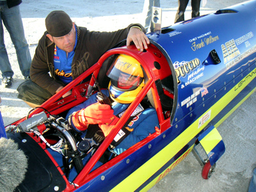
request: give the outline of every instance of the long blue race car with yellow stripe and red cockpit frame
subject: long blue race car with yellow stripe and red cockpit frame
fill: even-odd
[[[170,27],[156,25],[142,52],[120,42],[103,54],[40,108],[6,126],[6,135],[0,132],[28,158],[15,191],[147,191],[190,152],[209,179],[225,152],[216,128],[255,92],[255,15],[256,1],[248,1]],[[69,109],[108,89],[109,67],[117,60],[129,64],[125,58],[140,63],[145,86],[104,140],[81,140],[65,118]],[[72,95],[62,98],[69,90]],[[104,95],[99,97],[105,103]],[[139,104],[156,109],[159,126],[117,155],[113,141],[125,136],[122,128]],[[63,156],[63,166],[49,148]],[[68,177],[72,168],[74,179]]]

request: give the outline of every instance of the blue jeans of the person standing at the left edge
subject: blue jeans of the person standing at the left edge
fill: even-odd
[[[13,76],[13,70],[8,58],[6,47],[4,45],[3,24],[9,32],[12,43],[16,49],[21,73],[24,77],[29,76],[31,56],[24,34],[19,5],[8,8],[6,1],[0,1],[0,19],[0,70],[2,72],[2,76]]]

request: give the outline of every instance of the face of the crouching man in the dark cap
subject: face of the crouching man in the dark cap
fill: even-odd
[[[76,44],[76,27],[73,23],[73,27],[71,31],[65,35],[60,37],[52,36],[52,41],[56,44],[61,50],[65,52],[71,52],[74,50]]]

